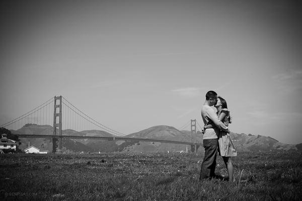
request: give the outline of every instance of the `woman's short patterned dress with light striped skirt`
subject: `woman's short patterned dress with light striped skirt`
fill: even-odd
[[[217,114],[217,116],[219,117],[221,113],[225,114],[225,118],[222,120],[222,123],[225,126],[229,126],[230,112],[228,111],[228,109],[222,109],[220,113]],[[218,153],[220,156],[226,156],[226,157],[237,156],[237,151],[232,142],[230,133],[220,131],[218,136],[218,148],[219,148]]]

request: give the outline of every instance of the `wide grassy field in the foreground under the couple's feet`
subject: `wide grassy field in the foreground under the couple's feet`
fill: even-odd
[[[239,153],[237,182],[199,181],[202,156],[2,154],[2,200],[301,200],[301,153]],[[216,173],[226,174],[221,157]]]

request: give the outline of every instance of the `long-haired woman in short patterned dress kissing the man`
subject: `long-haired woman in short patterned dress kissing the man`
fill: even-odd
[[[218,119],[225,125],[229,126],[232,123],[230,117],[230,111],[228,110],[228,105],[226,105],[226,101],[224,98],[218,96],[217,103],[215,105],[217,109]],[[212,125],[205,125],[204,129],[212,128]],[[218,136],[218,147],[219,147],[219,155],[222,156],[222,159],[225,163],[226,169],[228,169],[229,173],[229,181],[234,181],[234,167],[232,163],[231,157],[237,156],[236,148],[232,142],[231,135],[229,133],[220,131]]]

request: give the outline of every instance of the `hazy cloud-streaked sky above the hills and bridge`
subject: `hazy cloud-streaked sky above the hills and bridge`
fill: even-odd
[[[1,125],[62,95],[123,134],[191,119],[202,126],[214,90],[232,132],[302,143],[298,1],[0,5]]]

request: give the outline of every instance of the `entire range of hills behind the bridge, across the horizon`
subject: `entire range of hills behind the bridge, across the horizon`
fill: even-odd
[[[49,125],[27,124],[21,129],[14,131],[13,134],[44,134],[52,135],[53,129]],[[63,130],[63,135],[75,136],[113,136],[106,131],[86,130],[74,131]],[[196,142],[202,143],[202,133],[197,131]],[[256,151],[302,151],[302,144],[290,145],[277,141],[274,138],[253,135],[232,133],[231,136],[238,152],[256,152]],[[148,139],[164,139],[172,141],[191,142],[191,131],[179,131],[171,126],[154,126],[136,133],[127,135],[126,137],[148,138]],[[28,144],[34,145],[40,149],[52,151],[52,140],[43,138],[20,138],[20,149],[28,147]],[[191,146],[181,144],[169,144],[159,142],[135,142],[135,141],[108,141],[108,140],[89,140],[89,139],[63,139],[62,150],[65,152],[186,152],[191,150]],[[203,147],[198,149],[203,151]]]

